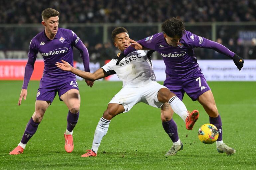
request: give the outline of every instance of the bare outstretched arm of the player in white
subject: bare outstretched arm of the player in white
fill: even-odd
[[[57,62],[55,65],[58,68],[60,68],[64,71],[70,71],[70,72],[74,73],[75,75],[77,75],[77,76],[79,76],[83,79],[87,79],[87,80],[90,80],[90,81],[95,81],[95,80],[106,77],[102,69],[98,69],[94,73],[89,73],[89,72],[78,70],[78,69],[70,66],[70,64],[68,62],[64,61],[64,60],[62,60],[62,62],[63,63]]]

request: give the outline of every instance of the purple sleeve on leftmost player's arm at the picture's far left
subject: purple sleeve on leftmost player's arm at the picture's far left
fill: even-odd
[[[28,88],[29,80],[34,70],[34,64],[37,58],[37,53],[38,53],[37,47],[35,43],[33,43],[33,39],[32,39],[29,45],[28,62],[25,66],[24,80],[23,80],[23,85],[21,89]]]

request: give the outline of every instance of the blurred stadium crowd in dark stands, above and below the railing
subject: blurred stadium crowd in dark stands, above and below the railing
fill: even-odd
[[[3,24],[39,24],[41,12],[48,8],[60,12],[61,24],[69,28],[78,23],[161,23],[179,16],[186,23],[200,22],[255,22],[255,0],[1,0],[0,1],[0,50],[28,50],[30,40],[43,27],[5,27]],[[122,25],[120,25],[122,26]],[[112,27],[114,28],[114,27]],[[116,53],[109,35],[103,43],[103,28],[70,27],[84,41],[91,60],[110,59]],[[139,35],[137,28],[127,28],[131,38],[139,40],[157,33],[157,28],[144,28]],[[187,27],[195,34],[211,39],[211,27]],[[246,31],[250,31],[249,33]],[[256,25],[218,26],[216,41],[245,58],[256,58]],[[242,32],[241,32],[242,31]],[[108,30],[109,34],[111,30]],[[255,34],[255,35],[254,35]],[[255,37],[254,37],[255,36]],[[226,59],[214,51],[196,49],[201,59]],[[207,54],[207,55],[206,55]],[[103,58],[102,58],[103,57]],[[158,56],[159,57],[159,56]]]

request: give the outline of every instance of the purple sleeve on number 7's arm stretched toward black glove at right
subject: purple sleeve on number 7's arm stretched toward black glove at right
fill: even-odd
[[[186,31],[184,39],[186,39],[187,44],[191,47],[210,48],[230,58],[233,58],[235,55],[235,53],[230,51],[227,47],[204,37],[195,35],[189,31]]]

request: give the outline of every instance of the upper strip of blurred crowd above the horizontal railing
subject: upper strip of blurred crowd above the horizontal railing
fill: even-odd
[[[55,8],[61,23],[152,23],[181,16],[185,22],[256,21],[252,0],[1,0],[0,23],[40,23]]]

